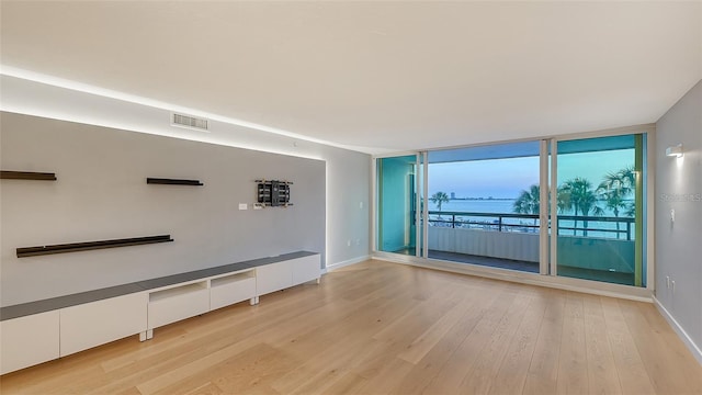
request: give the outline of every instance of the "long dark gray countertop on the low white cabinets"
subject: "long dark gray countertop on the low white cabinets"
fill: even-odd
[[[80,292],[71,295],[50,297],[42,301],[22,303],[0,308],[0,320],[24,317],[32,314],[50,312],[59,308],[76,306],[84,303],[102,301],[110,297],[127,295],[131,293],[155,290],[162,286],[179,284],[199,279],[205,279],[219,274],[231,273],[240,270],[251,269],[264,264],[282,262],[296,258],[304,258],[317,255],[318,252],[297,251],[283,253],[278,257],[259,258],[244,262],[224,264],[214,268],[201,269],[185,273],[171,274],[156,279],[137,281],[128,284],[109,286],[99,290]]]

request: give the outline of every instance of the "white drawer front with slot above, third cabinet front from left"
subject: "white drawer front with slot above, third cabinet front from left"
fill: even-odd
[[[151,292],[148,328],[154,329],[208,311],[210,289],[206,281]]]

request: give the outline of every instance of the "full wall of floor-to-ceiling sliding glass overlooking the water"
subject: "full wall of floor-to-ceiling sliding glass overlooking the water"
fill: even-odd
[[[630,134],[378,158],[376,250],[646,286],[646,155]]]

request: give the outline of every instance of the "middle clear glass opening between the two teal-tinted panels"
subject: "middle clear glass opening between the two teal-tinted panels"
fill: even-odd
[[[429,258],[539,272],[540,144],[429,153]]]

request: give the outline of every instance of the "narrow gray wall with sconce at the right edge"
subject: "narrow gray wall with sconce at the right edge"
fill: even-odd
[[[684,156],[666,157],[679,143]],[[655,149],[656,297],[702,348],[702,81],[658,120]]]

